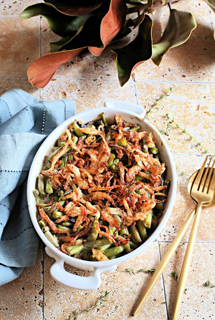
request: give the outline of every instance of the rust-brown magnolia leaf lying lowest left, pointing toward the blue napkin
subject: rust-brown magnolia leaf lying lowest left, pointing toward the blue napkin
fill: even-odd
[[[28,68],[27,74],[29,82],[37,88],[44,88],[51,80],[57,68],[59,68],[64,62],[75,57],[83,49],[84,48],[79,48],[69,51],[49,53],[37,59]]]

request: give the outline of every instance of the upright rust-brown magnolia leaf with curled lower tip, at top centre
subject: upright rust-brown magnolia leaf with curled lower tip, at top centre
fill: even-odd
[[[125,24],[127,6],[121,0],[111,0],[110,9],[101,22],[101,40],[100,47],[89,46],[89,51],[95,56],[99,56],[104,48],[113,40],[120,29]]]

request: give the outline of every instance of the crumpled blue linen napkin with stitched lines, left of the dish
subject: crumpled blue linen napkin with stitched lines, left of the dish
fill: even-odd
[[[39,238],[28,211],[29,169],[46,136],[74,114],[68,99],[43,101],[21,89],[0,97],[0,285],[35,264]]]

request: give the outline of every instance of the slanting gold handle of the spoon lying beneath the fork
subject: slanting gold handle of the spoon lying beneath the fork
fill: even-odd
[[[186,232],[191,220],[193,219],[194,214],[195,214],[195,209],[193,209],[190,212],[190,214],[187,217],[185,223],[183,224],[183,226],[179,230],[177,236],[174,238],[172,244],[169,246],[169,249],[167,250],[167,252],[163,256],[163,259],[161,260],[161,262],[157,266],[153,276],[149,280],[144,292],[142,293],[139,301],[137,302],[137,305],[136,305],[136,307],[135,307],[135,309],[133,311],[133,315],[134,316],[136,315],[136,313],[138,312],[139,308],[142,306],[142,304],[144,303],[144,301],[148,297],[149,293],[152,291],[154,285],[156,284],[156,282],[160,278],[163,270],[166,268],[167,264],[169,263],[173,253],[175,252],[176,248],[178,247],[178,244],[180,243],[180,241],[183,238],[183,236],[184,236],[184,234],[185,234],[185,232]]]

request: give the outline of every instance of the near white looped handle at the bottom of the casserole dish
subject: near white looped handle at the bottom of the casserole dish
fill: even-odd
[[[76,290],[90,291],[98,289],[101,284],[100,273],[113,272],[117,268],[117,265],[95,268],[92,274],[88,277],[76,276],[64,269],[63,259],[55,256],[47,247],[45,248],[45,251],[50,257],[56,260],[50,268],[50,274],[52,278],[60,284]]]

